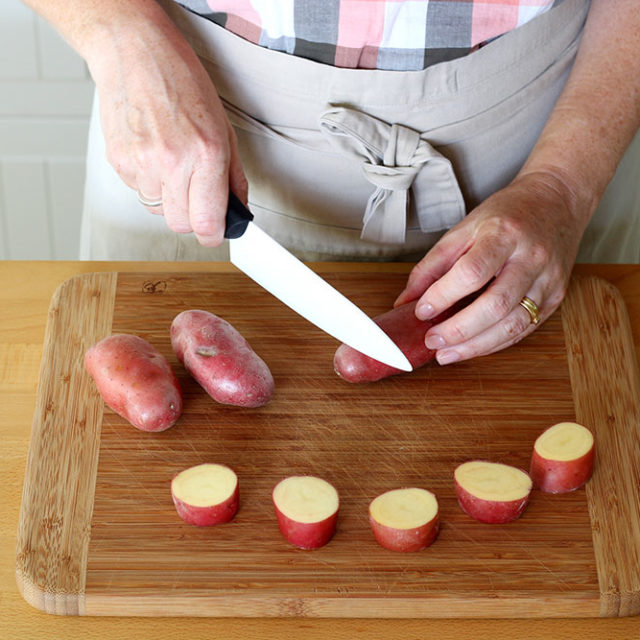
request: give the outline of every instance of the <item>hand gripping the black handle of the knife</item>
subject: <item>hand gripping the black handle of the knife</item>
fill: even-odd
[[[164,215],[171,230],[217,246],[229,188],[247,201],[237,140],[202,63],[159,12],[129,23],[109,55],[102,46],[87,57],[107,158],[129,187],[162,199],[148,210]]]

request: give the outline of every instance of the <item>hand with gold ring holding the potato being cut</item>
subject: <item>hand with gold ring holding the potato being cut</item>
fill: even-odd
[[[576,214],[574,202],[556,176],[520,175],[416,264],[395,306],[419,299],[422,320],[482,290],[427,332],[426,344],[440,364],[487,355],[529,335],[536,325],[520,305],[524,296],[537,304],[540,323],[558,308],[587,219]]]

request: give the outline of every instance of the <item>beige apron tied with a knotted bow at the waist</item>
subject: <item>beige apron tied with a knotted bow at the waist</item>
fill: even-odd
[[[423,71],[340,69],[251,44],[163,0],[238,134],[256,222],[309,260],[415,260],[524,163],[588,0]],[[81,257],[227,259],[149,214],[107,164],[94,105]]]

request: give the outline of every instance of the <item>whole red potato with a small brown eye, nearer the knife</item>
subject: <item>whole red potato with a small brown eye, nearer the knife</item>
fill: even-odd
[[[217,402],[261,407],[271,399],[269,367],[226,320],[199,309],[183,311],[171,323],[171,346]]]

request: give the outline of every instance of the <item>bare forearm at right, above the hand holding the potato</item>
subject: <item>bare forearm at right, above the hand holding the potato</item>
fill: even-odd
[[[586,225],[638,127],[638,3],[593,0],[567,85],[521,174],[548,176]]]

